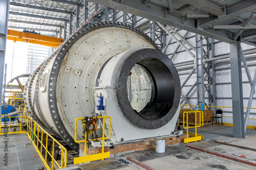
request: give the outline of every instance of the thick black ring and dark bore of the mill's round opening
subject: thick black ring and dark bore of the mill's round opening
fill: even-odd
[[[134,110],[127,96],[127,78],[132,67],[138,64],[148,74],[152,83],[150,102],[140,111]],[[152,48],[138,50],[123,62],[117,76],[117,98],[127,119],[143,129],[158,129],[175,115],[180,102],[180,78],[173,62]]]

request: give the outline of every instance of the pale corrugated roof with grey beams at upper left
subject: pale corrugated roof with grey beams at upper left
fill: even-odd
[[[11,0],[8,29],[40,31],[44,35],[56,35],[76,8],[82,8],[82,1]]]

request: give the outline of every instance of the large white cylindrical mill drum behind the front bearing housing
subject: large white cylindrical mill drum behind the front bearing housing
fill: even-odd
[[[158,51],[150,37],[126,23],[99,22],[82,27],[29,77],[24,91],[29,112],[50,133],[78,150],[75,119],[92,116],[96,102],[93,88],[99,83],[100,69],[111,57],[138,47]],[[81,125],[77,132],[81,139]]]

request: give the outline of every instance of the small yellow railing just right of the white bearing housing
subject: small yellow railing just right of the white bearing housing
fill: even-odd
[[[188,123],[189,113],[195,113],[195,124],[189,124]],[[197,113],[199,113],[199,124],[197,124]],[[186,122],[185,122],[185,114],[186,114]],[[186,124],[186,126],[185,126],[185,124]],[[195,125],[195,126],[189,126],[189,125]],[[197,110],[197,111],[185,111],[185,112],[183,112],[183,128],[186,130],[186,135],[187,135],[187,138],[184,139],[184,143],[202,140],[201,135],[197,134],[197,128],[199,128],[201,126],[204,126],[203,111]],[[195,137],[188,137],[188,129],[189,128],[195,128]]]

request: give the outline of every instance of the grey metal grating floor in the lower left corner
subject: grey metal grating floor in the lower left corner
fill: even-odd
[[[5,136],[0,136],[0,170],[36,170],[44,167],[42,160],[26,134],[8,135],[8,151],[5,151]],[[5,165],[4,156],[8,154],[8,166]]]

